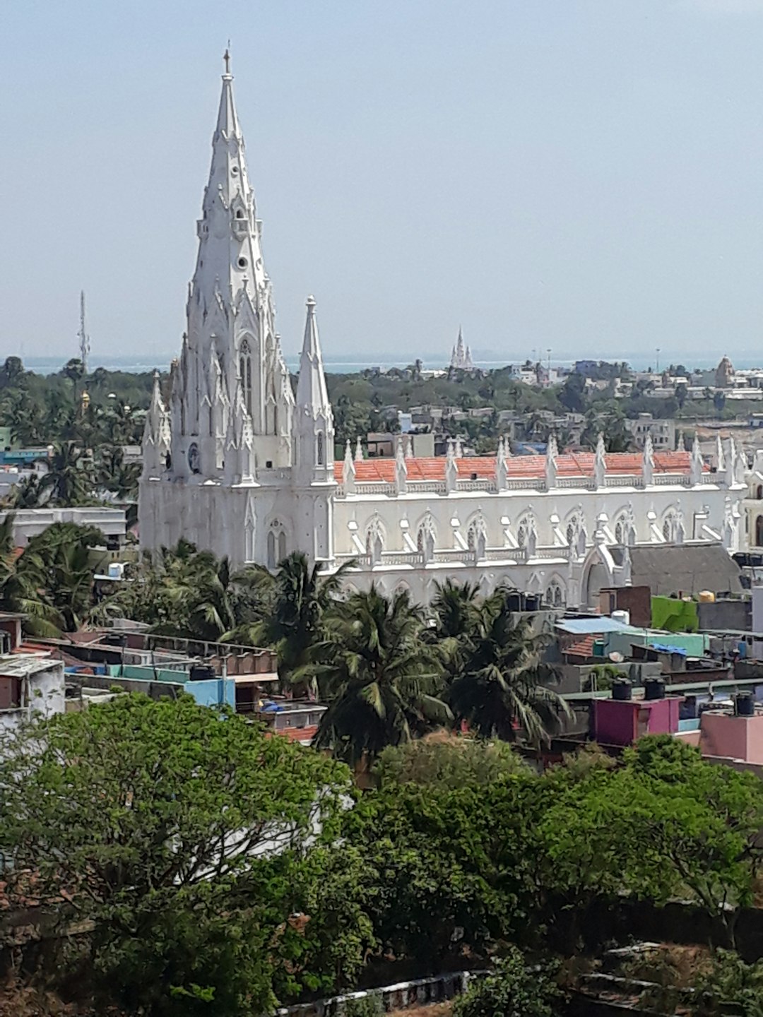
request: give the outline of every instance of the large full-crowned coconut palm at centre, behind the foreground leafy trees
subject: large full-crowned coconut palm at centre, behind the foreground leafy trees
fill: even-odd
[[[329,702],[313,744],[353,766],[448,724],[439,649],[424,639],[421,609],[405,592],[374,586],[336,604],[317,648],[321,698]]]

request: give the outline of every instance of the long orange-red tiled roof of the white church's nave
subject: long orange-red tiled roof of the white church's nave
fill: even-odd
[[[556,457],[556,476],[592,477],[596,457],[591,452],[565,453]],[[431,459],[407,459],[405,461],[409,480],[445,480],[446,457]],[[469,479],[476,474],[478,480],[495,476],[495,457],[479,456],[456,460],[459,476]],[[641,473],[643,457],[641,453],[608,453],[606,455],[607,474]],[[655,473],[689,473],[691,456],[688,452],[655,452]],[[705,467],[707,470],[708,467]],[[334,464],[334,475],[342,476],[344,463]],[[513,456],[507,460],[507,474],[510,477],[542,477],[545,475],[545,456]],[[355,463],[355,479],[361,483],[394,483],[395,460],[364,459]]]

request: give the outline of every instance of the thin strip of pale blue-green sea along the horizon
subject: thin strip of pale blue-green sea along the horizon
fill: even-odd
[[[533,351],[528,351],[527,356],[532,356]],[[545,351],[543,351],[545,353]],[[12,354],[2,354],[0,353],[0,363],[5,359],[6,356]],[[75,355],[75,351],[72,351],[72,356]],[[681,357],[681,356],[670,356],[669,351],[660,351],[659,366],[660,368],[666,367],[668,364],[684,364],[689,370],[695,370],[700,368],[702,370],[707,370],[711,367],[716,367],[718,361],[723,355],[722,351],[717,353],[713,357],[703,357],[702,359]],[[169,368],[170,362],[173,356],[177,356],[177,353],[167,353],[167,354],[138,354],[135,356],[99,356],[97,352],[91,354],[91,370],[96,367],[105,367],[109,371],[128,371],[130,373],[141,373],[143,371],[153,371],[155,368],[159,368],[165,371]],[[34,371],[36,374],[55,374],[60,371],[63,367],[66,357],[33,357],[23,356],[23,365],[26,370]],[[542,356],[541,361],[543,364],[547,363],[546,356]],[[551,366],[564,366],[569,367],[573,363],[574,357],[567,357],[559,359],[551,357]],[[592,359],[592,360],[602,360],[607,359],[598,356],[592,356],[587,358],[585,354],[581,353],[578,355],[577,359]],[[654,356],[645,357],[643,352],[640,354],[635,354],[634,356],[628,355],[618,355],[609,357],[610,360],[625,360],[634,370],[646,370],[647,368],[653,368],[655,365]],[[424,354],[421,357],[425,369],[442,369],[448,366],[448,361],[446,356],[441,353],[433,353],[430,355]],[[506,367],[508,364],[522,363],[525,360],[524,356],[514,356],[501,359],[498,355],[491,350],[486,350],[482,354],[480,351],[474,352],[474,364],[476,367],[482,367],[485,370],[495,369],[498,367]],[[756,358],[755,354],[750,354],[748,356],[741,355],[738,358],[731,357],[735,367],[745,368],[745,367],[756,367],[761,366],[763,363],[763,356],[758,355]],[[286,363],[290,370],[296,371],[299,368],[299,355],[294,354],[292,356],[286,357]],[[364,359],[359,359],[357,355],[353,359],[350,355],[337,355],[337,356],[324,356],[324,367],[329,373],[337,374],[350,374],[357,371],[365,370],[371,367],[380,367],[383,370],[388,370],[391,367],[406,367],[411,363],[411,357],[400,356],[394,353],[384,354],[377,357],[368,356]]]

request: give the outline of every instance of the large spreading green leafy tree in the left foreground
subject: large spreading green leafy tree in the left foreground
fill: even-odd
[[[6,893],[95,925],[66,964],[97,997],[262,1012],[357,972],[357,873],[327,849],[349,774],[318,754],[190,697],[135,695],[23,729],[0,782]]]

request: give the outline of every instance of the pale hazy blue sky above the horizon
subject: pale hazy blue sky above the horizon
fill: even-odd
[[[229,37],[287,354],[763,362],[763,0],[4,0],[0,356],[177,350]]]

